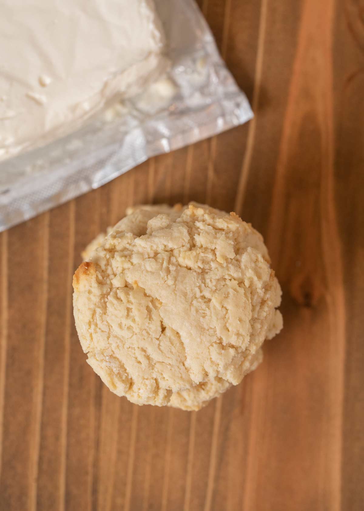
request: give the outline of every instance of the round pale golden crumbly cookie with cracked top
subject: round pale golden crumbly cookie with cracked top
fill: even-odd
[[[263,238],[234,213],[131,208],[83,255],[73,278],[82,349],[133,403],[200,409],[239,384],[282,328]]]

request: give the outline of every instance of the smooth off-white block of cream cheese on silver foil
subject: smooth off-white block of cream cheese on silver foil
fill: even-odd
[[[77,129],[164,67],[151,0],[0,0],[0,159]]]

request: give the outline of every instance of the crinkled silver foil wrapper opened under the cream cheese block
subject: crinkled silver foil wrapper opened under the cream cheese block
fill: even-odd
[[[195,0],[156,0],[169,71],[82,129],[0,164],[0,231],[96,189],[148,158],[252,118]]]

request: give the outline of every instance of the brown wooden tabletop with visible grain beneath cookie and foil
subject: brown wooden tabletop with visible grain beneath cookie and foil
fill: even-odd
[[[364,509],[364,5],[200,5],[255,119],[0,236],[2,511]],[[134,406],[85,363],[72,274],[126,206],[191,199],[263,233],[285,328],[202,411]]]

